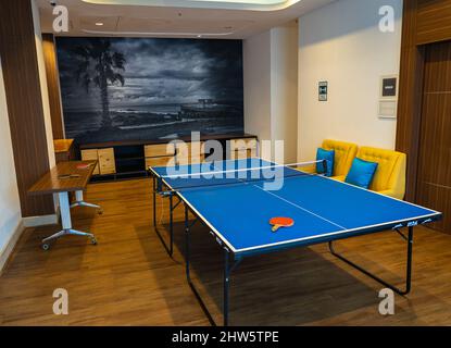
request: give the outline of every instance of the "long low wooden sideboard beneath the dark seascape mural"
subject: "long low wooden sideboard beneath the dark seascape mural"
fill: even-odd
[[[179,138],[177,142],[131,140],[87,144],[79,147],[84,161],[98,161],[93,179],[116,179],[147,175],[149,166],[200,163],[208,156],[205,144],[216,140],[223,159],[258,156],[258,138],[250,134],[203,136],[198,141]]]

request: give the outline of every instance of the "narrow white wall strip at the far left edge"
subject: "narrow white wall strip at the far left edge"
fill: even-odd
[[[0,61],[0,271],[22,232],[21,203]]]

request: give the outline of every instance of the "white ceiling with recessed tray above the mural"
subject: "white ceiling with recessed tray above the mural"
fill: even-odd
[[[64,36],[245,39],[298,18],[333,1],[335,0],[57,0],[55,2],[68,9],[70,32],[64,33]],[[52,33],[55,16],[50,0],[37,0],[37,3],[41,13],[42,32]]]

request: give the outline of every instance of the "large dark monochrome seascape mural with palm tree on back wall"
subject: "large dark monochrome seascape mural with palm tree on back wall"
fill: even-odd
[[[57,39],[65,133],[78,144],[243,132],[242,41]]]

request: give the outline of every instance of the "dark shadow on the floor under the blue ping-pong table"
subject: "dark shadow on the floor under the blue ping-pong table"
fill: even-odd
[[[168,226],[160,232],[168,240]],[[175,262],[184,264],[184,224],[174,224]],[[163,248],[163,246],[162,246]],[[326,248],[324,248],[326,252]],[[191,274],[214,321],[222,324],[223,250],[203,226],[191,233]],[[302,325],[372,307],[374,288],[310,248],[245,259],[231,274],[231,325]]]

